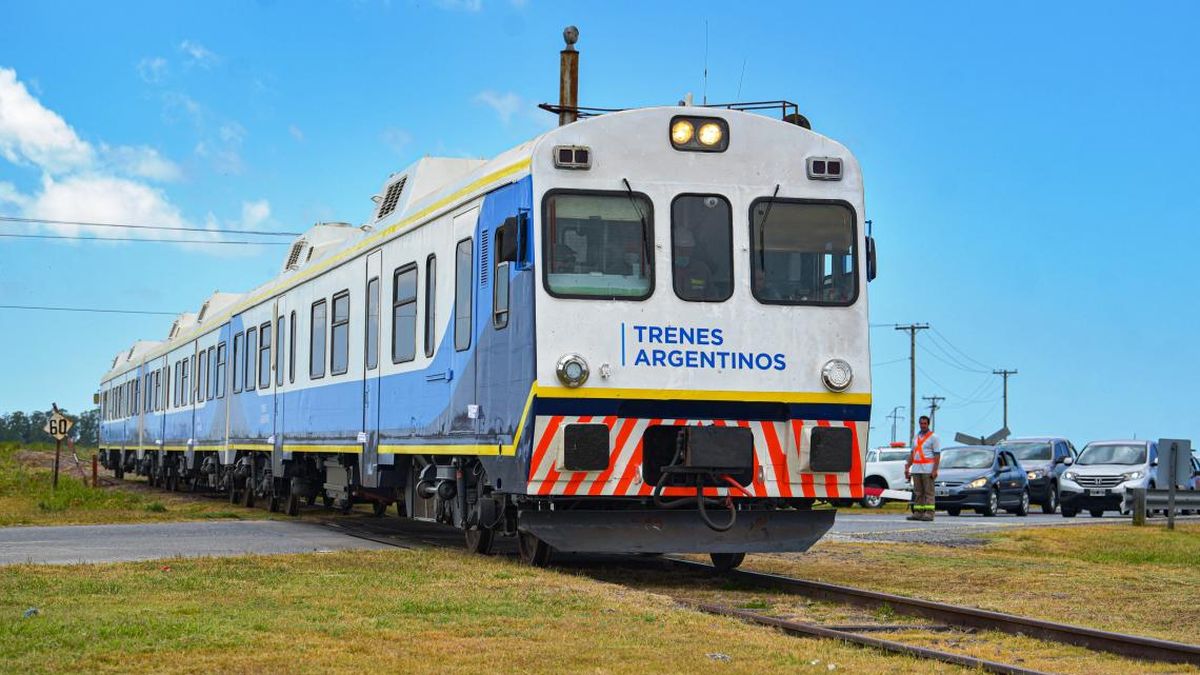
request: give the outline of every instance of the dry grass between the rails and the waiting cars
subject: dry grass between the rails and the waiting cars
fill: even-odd
[[[803,555],[756,555],[778,572],[1150,635],[1200,641],[1200,525],[1003,530],[980,546],[824,540]]]

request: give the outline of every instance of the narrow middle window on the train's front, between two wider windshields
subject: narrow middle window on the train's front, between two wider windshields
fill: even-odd
[[[720,303],[733,294],[733,210],[720,195],[671,202],[671,276],[684,300]]]

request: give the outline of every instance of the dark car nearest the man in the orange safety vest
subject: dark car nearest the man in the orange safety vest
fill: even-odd
[[[961,446],[942,450],[934,482],[938,510],[959,515],[973,508],[996,515],[1001,508],[1030,514],[1030,480],[1013,453],[992,446]]]

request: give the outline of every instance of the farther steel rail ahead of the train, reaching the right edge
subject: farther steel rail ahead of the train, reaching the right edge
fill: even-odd
[[[668,558],[671,562],[690,569],[712,572],[712,566],[679,558]],[[822,581],[809,581],[780,574],[764,572],[749,572],[734,569],[725,573],[726,578],[736,581],[757,585],[761,587],[786,590],[809,598],[850,603],[869,608],[888,605],[898,614],[908,616],[920,616],[932,619],[950,626],[968,626],[988,631],[1000,631],[1048,640],[1087,647],[1093,651],[1103,651],[1118,656],[1141,658],[1146,661],[1165,663],[1189,663],[1200,665],[1200,646],[1159,640],[1157,638],[1145,638],[1141,635],[1127,635],[1124,633],[1112,633],[1084,626],[1072,626],[1069,623],[1056,623],[1042,619],[1031,619],[977,609],[972,607],[953,605],[919,598],[896,596],[878,591],[868,591],[851,586],[826,584]]]

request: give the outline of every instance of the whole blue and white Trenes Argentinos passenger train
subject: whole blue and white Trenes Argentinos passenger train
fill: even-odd
[[[539,566],[810,548],[818,502],[863,497],[857,160],[786,101],[587,109],[560,74],[558,127],[392,173],[362,225],[122,350],[103,466],[288,514],[395,504]]]

